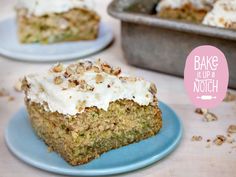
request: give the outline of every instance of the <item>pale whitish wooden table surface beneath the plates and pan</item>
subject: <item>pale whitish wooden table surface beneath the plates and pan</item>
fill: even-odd
[[[216,135],[226,135],[228,126],[236,124],[236,102],[224,102],[217,108],[211,109],[218,116],[218,121],[203,122],[201,116],[194,113],[195,108],[186,95],[183,79],[129,66],[120,47],[120,23],[106,14],[109,2],[110,0],[97,0],[97,9],[103,20],[112,27],[115,41],[92,58],[102,58],[113,65],[121,66],[127,73],[156,83],[158,98],[176,111],[184,126],[182,141],[172,154],[149,167],[120,176],[236,177],[236,148],[232,148],[236,143],[234,145],[224,143],[221,146],[210,143],[210,147],[207,148],[206,142],[208,138],[214,139]],[[14,16],[14,3],[14,0],[0,1],[0,20]],[[5,88],[15,98],[9,101],[8,97],[0,97],[0,177],[57,176],[18,160],[9,152],[4,141],[7,122],[19,108],[24,106],[23,94],[14,90],[18,78],[47,69],[50,65],[51,63],[20,62],[0,56],[0,88]],[[200,135],[203,140],[192,142],[193,135]],[[236,135],[233,136],[236,138]]]

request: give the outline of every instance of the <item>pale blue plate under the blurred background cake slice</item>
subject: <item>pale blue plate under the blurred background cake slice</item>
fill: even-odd
[[[113,40],[113,32],[104,22],[96,40],[61,42],[49,45],[20,44],[17,36],[16,19],[0,22],[0,54],[24,61],[71,60],[93,54],[105,48]]]

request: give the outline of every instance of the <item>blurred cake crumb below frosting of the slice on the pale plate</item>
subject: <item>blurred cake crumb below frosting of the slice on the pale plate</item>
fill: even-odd
[[[28,15],[18,9],[18,36],[22,43],[53,43],[96,39],[100,17],[91,10],[74,8],[63,13],[44,16]]]

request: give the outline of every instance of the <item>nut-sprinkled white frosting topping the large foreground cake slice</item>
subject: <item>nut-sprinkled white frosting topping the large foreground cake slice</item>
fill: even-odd
[[[154,101],[155,93],[150,90],[153,84],[127,77],[119,69],[98,63],[86,61],[68,67],[57,65],[44,74],[26,76],[29,85],[26,96],[32,102],[46,103],[45,109],[51,112],[65,115],[81,113],[85,107],[107,110],[110,102],[119,99],[133,100],[139,105],[149,105]],[[87,69],[77,72],[80,65]],[[63,69],[58,72],[55,68]]]

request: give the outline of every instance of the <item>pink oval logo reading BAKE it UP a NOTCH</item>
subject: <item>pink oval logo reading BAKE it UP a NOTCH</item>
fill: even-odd
[[[228,81],[228,64],[218,48],[200,46],[189,54],[184,70],[184,85],[195,106],[216,107],[225,97]]]

